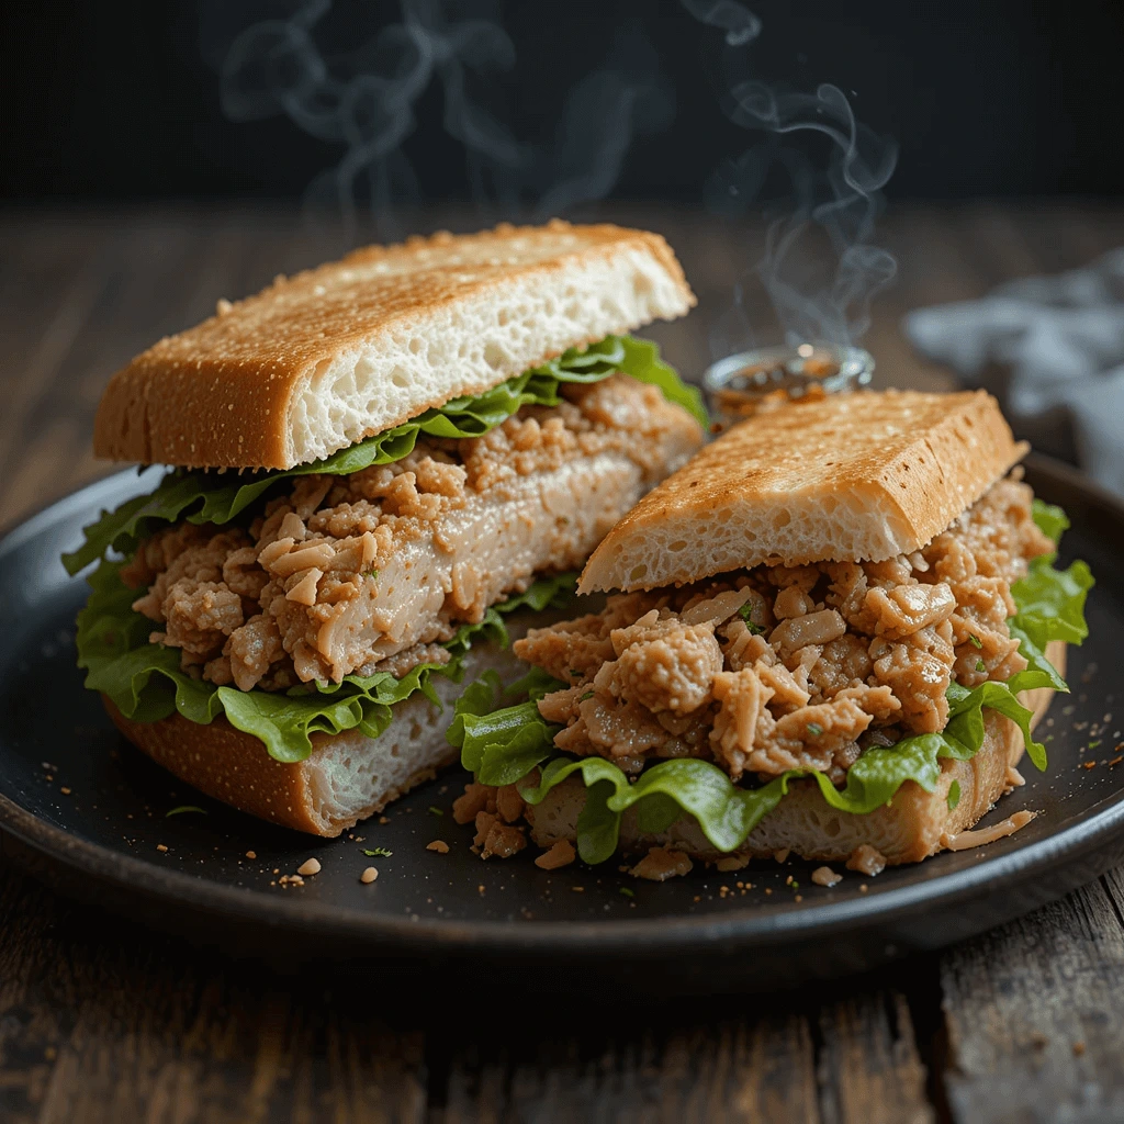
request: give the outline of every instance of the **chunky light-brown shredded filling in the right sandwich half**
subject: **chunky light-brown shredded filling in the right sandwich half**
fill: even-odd
[[[570,683],[538,704],[562,750],[626,772],[690,755],[735,780],[815,769],[842,783],[867,749],[943,729],[951,681],[1025,668],[1010,584],[1052,550],[1031,498],[1013,477],[908,556],[610,597],[515,651]]]

